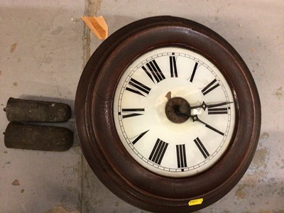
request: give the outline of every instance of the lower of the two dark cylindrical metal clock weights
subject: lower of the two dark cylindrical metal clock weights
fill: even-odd
[[[70,129],[10,122],[4,133],[7,148],[38,151],[67,151],[73,144]]]

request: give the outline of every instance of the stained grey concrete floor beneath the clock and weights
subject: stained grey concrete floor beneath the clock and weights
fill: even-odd
[[[200,212],[284,212],[284,1],[0,1],[0,104],[9,97],[74,107],[77,82],[101,43],[80,20],[103,15],[109,33],[140,18],[171,15],[212,28],[249,66],[262,103],[258,150],[244,178]],[[281,74],[282,73],[282,74]],[[0,131],[7,124],[0,113]],[[74,130],[74,118],[66,124]],[[144,212],[89,169],[77,138],[66,152],[8,149],[0,138],[0,212]]]

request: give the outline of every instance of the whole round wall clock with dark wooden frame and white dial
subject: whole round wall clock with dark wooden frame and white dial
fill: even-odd
[[[80,79],[82,151],[111,192],[151,212],[193,212],[246,172],[261,104],[236,50],[209,28],[158,16],[97,48]]]

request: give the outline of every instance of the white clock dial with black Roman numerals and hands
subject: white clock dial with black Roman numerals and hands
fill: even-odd
[[[222,72],[185,48],[157,48],[126,67],[116,86],[114,121],[128,153],[173,178],[210,168],[235,126],[234,97]]]

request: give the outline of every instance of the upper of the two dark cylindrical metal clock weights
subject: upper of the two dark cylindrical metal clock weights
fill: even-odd
[[[67,104],[9,98],[4,109],[8,121],[63,122],[71,117]]]

